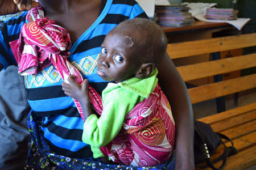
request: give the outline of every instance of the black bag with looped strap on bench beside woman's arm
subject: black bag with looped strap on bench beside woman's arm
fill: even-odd
[[[227,137],[226,135],[224,134],[221,134],[221,133],[217,133],[215,132],[220,138],[221,138],[221,143],[222,145],[224,145],[225,147],[225,150],[223,152],[223,154],[221,154],[220,156],[218,156],[217,159],[215,159],[213,162],[210,162],[210,154],[209,154],[209,151],[208,151],[208,147],[207,147],[207,143],[205,142],[205,138],[204,138],[204,135],[203,133],[201,132],[200,128],[199,128],[199,125],[198,125],[198,122],[195,120],[195,130],[197,131],[197,133],[199,134],[202,142],[203,142],[203,145],[204,145],[204,148],[205,148],[205,154],[207,155],[207,158],[206,158],[206,163],[207,165],[205,166],[199,166],[199,165],[196,165],[196,167],[199,167],[199,168],[206,168],[206,167],[210,167],[212,168],[213,170],[221,170],[224,168],[224,165],[226,164],[226,159],[228,158],[228,156],[230,155],[234,155],[234,154],[237,154],[237,149],[234,147],[234,143],[229,139],[229,137]],[[226,147],[225,143],[222,141],[222,139],[226,139],[227,141],[231,142],[232,146],[230,147]],[[222,160],[222,164],[220,165],[220,167],[216,168],[214,167],[214,163],[218,162]]]

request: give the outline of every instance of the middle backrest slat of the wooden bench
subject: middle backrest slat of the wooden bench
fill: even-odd
[[[185,82],[256,66],[256,53],[177,67]]]

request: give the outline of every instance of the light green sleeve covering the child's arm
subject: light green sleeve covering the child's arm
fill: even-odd
[[[87,118],[82,141],[98,148],[108,145],[121,130],[126,114],[143,99],[133,92],[119,88],[117,84],[109,84],[102,92],[101,116],[98,118],[91,115]]]

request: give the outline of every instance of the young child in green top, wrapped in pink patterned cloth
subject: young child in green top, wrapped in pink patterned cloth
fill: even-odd
[[[156,78],[166,46],[162,29],[147,19],[126,20],[106,35],[97,74],[110,83],[102,92],[100,117],[90,108],[88,80],[80,85],[70,76],[70,84],[62,84],[65,94],[81,104],[82,141],[91,146],[94,158],[154,166],[171,155],[174,119]]]

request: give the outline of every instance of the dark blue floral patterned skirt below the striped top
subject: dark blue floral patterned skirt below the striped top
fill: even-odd
[[[104,164],[88,159],[75,159],[63,155],[57,155],[53,152],[47,142],[43,138],[41,129],[36,126],[40,125],[40,121],[28,114],[28,129],[31,134],[30,141],[28,142],[28,157],[24,169],[175,169],[175,152],[172,153],[170,159],[165,163],[156,165],[154,167],[132,167],[127,165]]]

